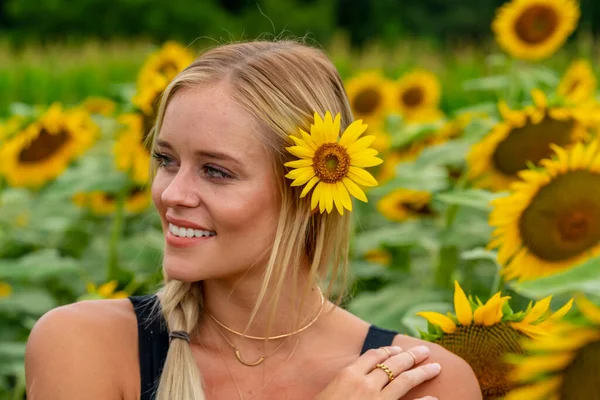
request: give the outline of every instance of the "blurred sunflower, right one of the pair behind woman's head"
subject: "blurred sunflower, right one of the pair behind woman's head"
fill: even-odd
[[[409,121],[429,122],[443,115],[437,109],[440,95],[437,76],[429,71],[416,70],[395,82],[392,107]]]

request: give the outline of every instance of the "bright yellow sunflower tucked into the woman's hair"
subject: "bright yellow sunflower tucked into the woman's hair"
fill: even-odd
[[[379,165],[383,160],[375,157],[377,150],[369,148],[374,136],[360,138],[366,129],[362,120],[354,121],[340,137],[340,114],[333,119],[328,111],[324,119],[315,113],[310,134],[299,129],[302,139],[290,135],[296,145],[287,150],[300,159],[285,163],[293,168],[286,178],[294,180],[292,186],[306,185],[300,197],[314,187],[312,210],[318,205],[320,212],[330,213],[335,205],[343,215],[344,208],[352,211],[350,195],[367,202],[358,185],[373,187],[377,181],[363,168]]]

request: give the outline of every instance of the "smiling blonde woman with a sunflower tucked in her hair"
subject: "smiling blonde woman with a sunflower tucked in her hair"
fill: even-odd
[[[28,399],[480,399],[462,359],[338,306],[350,195],[366,200],[365,168],[380,162],[365,128],[317,49],[200,56],[150,138],[164,286],[44,315]]]

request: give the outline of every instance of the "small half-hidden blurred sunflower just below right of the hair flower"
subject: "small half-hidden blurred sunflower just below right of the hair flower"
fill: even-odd
[[[435,214],[431,193],[412,189],[394,190],[379,200],[377,209],[387,219],[398,222]]]

